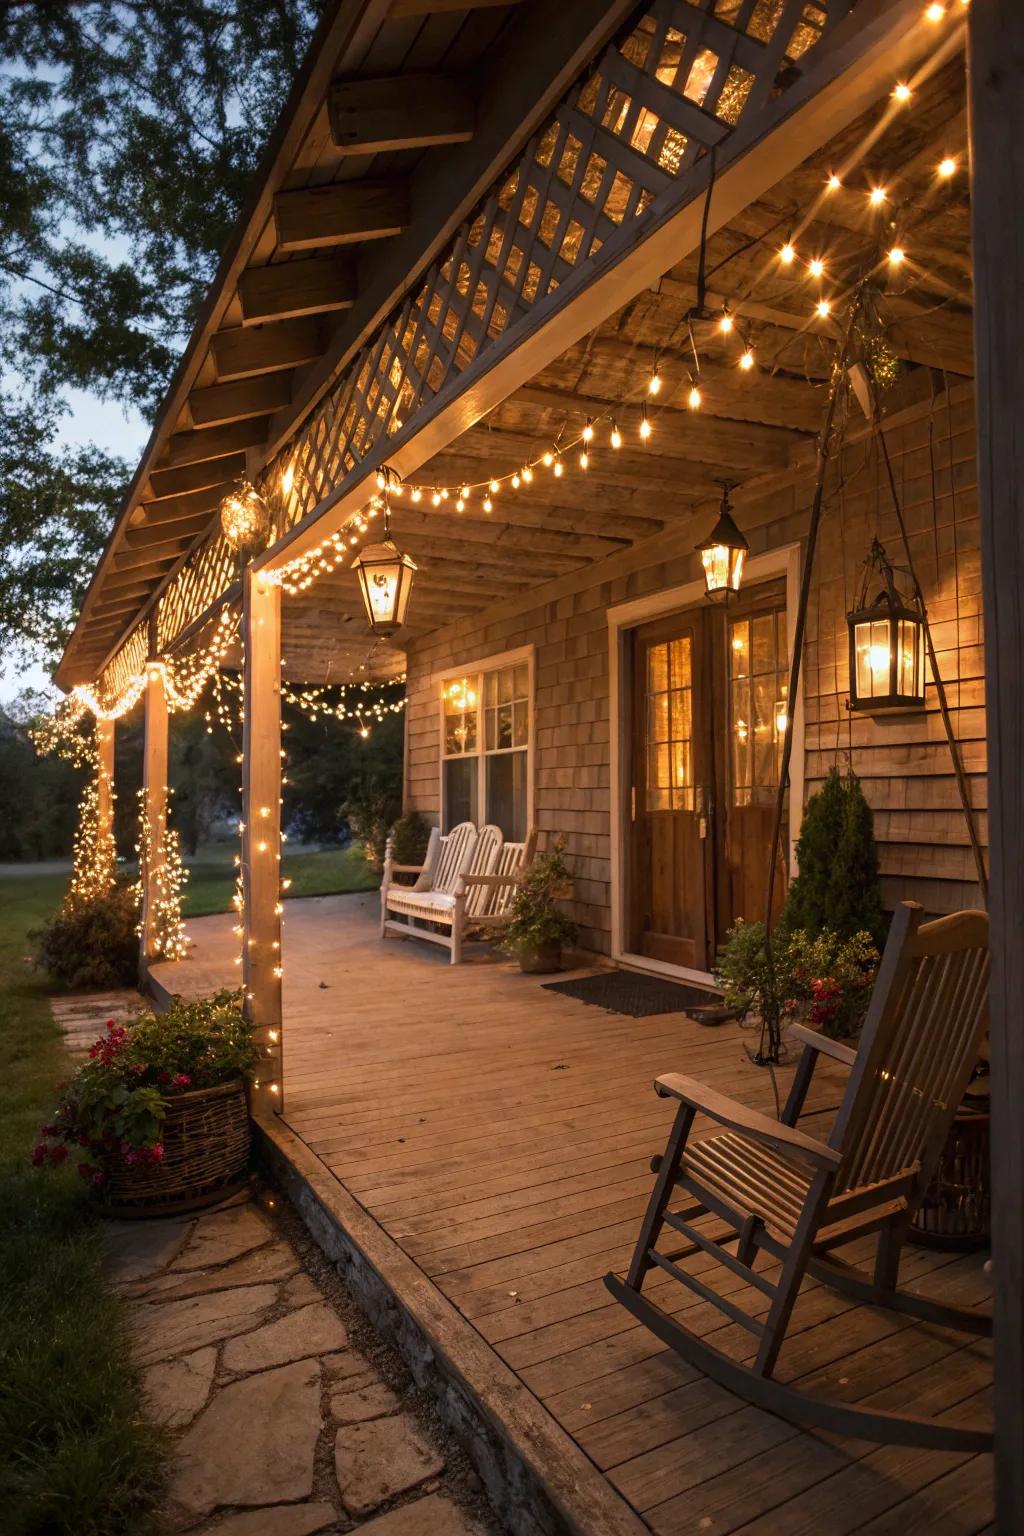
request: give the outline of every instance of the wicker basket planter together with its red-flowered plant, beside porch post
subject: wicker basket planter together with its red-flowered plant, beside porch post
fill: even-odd
[[[78,1160],[109,1215],[147,1217],[215,1204],[246,1180],[246,1072],[258,1060],[238,994],[184,1001],[130,1023],[107,1020],[63,1084],[37,1166]]]

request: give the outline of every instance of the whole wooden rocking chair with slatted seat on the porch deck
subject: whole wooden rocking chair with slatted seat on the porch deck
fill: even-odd
[[[625,1279],[605,1276],[611,1293],[691,1364],[780,1418],[898,1445],[990,1450],[992,1433],[983,1428],[827,1401],[772,1379],[804,1273],[858,1301],[969,1333],[992,1332],[984,1313],[947,1307],[897,1284],[907,1226],[978,1061],[987,998],[986,914],[956,912],[921,926],[921,908],[904,902],[892,920],[860,1049],[794,1029],[804,1051],[781,1121],[692,1078],[660,1077],[656,1092],[677,1098],[679,1111],[665,1155],[651,1164],[657,1180],[629,1270]],[[797,1129],[818,1055],[851,1068],[827,1144]],[[725,1130],[689,1143],[697,1112]],[[692,1201],[680,1212],[668,1209],[676,1190]],[[712,1236],[691,1226],[706,1213],[731,1230]],[[682,1252],[660,1247],[665,1227],[685,1240]],[[834,1247],[869,1232],[878,1232],[874,1275],[831,1256]],[[734,1238],[735,1252],[728,1252],[725,1244]],[[752,1267],[758,1249],[781,1264],[774,1283]],[[761,1321],[688,1273],[680,1261],[697,1252],[766,1295],[768,1316]],[[757,1339],[754,1361],[740,1362],[705,1342],[645,1296],[643,1278],[652,1266],[748,1329]]]

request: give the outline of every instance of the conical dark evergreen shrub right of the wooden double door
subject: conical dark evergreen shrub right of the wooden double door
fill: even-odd
[[[797,842],[800,874],[789,886],[778,926],[783,932],[831,931],[843,938],[870,934],[881,946],[886,917],[878,882],[872,813],[860,779],[832,768],[808,800]]]

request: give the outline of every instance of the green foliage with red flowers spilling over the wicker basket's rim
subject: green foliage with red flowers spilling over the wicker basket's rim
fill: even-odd
[[[78,1172],[98,1186],[115,1161],[157,1163],[167,1100],[227,1083],[252,1071],[256,1058],[253,1026],[235,992],[175,998],[166,1014],[129,1025],[111,1018],[66,1084],[52,1123],[43,1126],[32,1160],[63,1161],[68,1147],[84,1147]]]

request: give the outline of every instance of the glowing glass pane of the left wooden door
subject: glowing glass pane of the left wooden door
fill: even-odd
[[[692,641],[648,647],[645,699],[646,809],[692,811]]]

